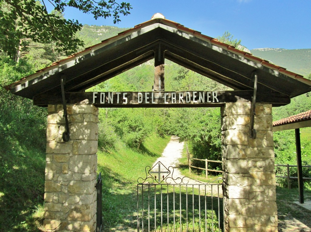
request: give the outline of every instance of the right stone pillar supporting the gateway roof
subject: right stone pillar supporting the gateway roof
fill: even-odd
[[[272,105],[256,104],[250,137],[250,106],[221,107],[225,231],[277,231]]]

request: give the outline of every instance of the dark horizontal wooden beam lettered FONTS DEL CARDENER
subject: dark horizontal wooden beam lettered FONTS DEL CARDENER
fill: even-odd
[[[94,104],[97,107],[219,107],[230,102],[250,102],[252,91],[161,91],[161,92],[66,92],[67,104]],[[258,102],[270,102],[273,94],[257,95]],[[283,104],[287,98],[273,99]],[[59,93],[33,98],[34,105],[62,104]]]

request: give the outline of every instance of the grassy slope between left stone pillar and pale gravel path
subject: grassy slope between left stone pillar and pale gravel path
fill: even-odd
[[[142,144],[143,152],[118,142],[115,149],[98,152],[98,172],[103,178],[104,231],[136,228],[136,184],[145,177],[145,167],[162,154],[170,137],[151,136]]]

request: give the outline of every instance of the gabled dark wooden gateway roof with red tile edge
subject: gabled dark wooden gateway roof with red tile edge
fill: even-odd
[[[253,90],[255,71],[257,102],[273,106],[286,105],[290,98],[311,90],[311,81],[299,74],[164,18],[136,25],[6,89],[30,99],[41,94],[61,95],[60,79],[66,76],[65,92],[85,91],[154,58],[171,60],[240,91]]]

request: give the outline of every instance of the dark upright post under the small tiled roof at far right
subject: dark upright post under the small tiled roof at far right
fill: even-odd
[[[299,128],[295,129],[295,137],[296,137],[296,156],[297,156],[299,202],[300,202],[300,204],[303,204],[304,203],[304,182],[302,180],[301,145],[300,145]]]

